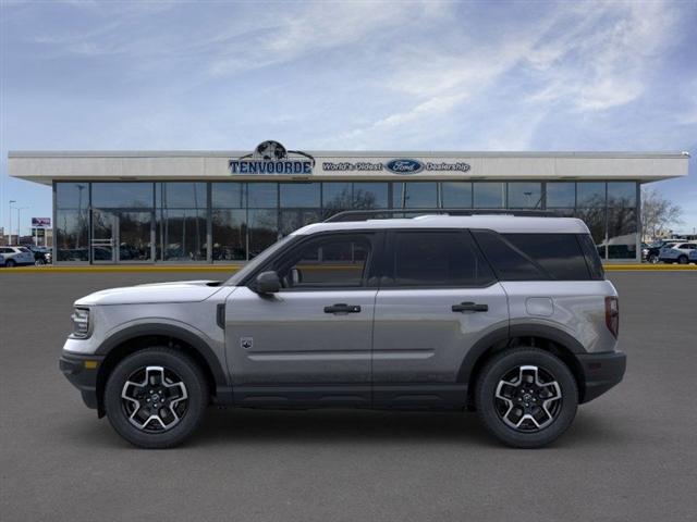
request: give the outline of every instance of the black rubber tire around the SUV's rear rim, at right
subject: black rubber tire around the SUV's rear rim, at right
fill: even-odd
[[[549,408],[542,410],[539,407],[539,402],[536,402],[536,405],[530,403],[530,409],[524,410],[523,407],[518,408],[513,401],[504,402],[505,399],[496,397],[499,383],[504,381],[506,375],[512,375],[512,373],[525,365],[538,368],[540,375],[551,376],[553,382],[558,383],[559,388],[548,388],[553,384],[546,384],[545,389],[559,390],[559,399],[547,405],[545,397],[537,395],[537,401],[545,402]],[[521,372],[519,375],[523,376],[523,373]],[[519,378],[518,381],[522,382],[523,380]],[[552,381],[547,380],[547,382],[551,383]],[[503,386],[505,388],[509,385]],[[524,386],[527,385],[523,385],[523,388],[512,386],[511,389],[525,391]],[[545,395],[550,394],[548,390],[541,393]],[[525,395],[525,397],[529,396],[529,394]],[[531,396],[536,397],[535,394],[531,394]],[[518,397],[514,400],[523,399]],[[514,448],[539,448],[555,440],[571,425],[578,406],[578,386],[566,364],[552,353],[534,347],[511,348],[497,353],[482,369],[475,390],[475,403],[484,425],[499,440]],[[533,408],[537,408],[537,410],[533,410]],[[510,412],[519,410],[521,419],[526,417],[525,412],[537,411],[542,413],[543,419],[547,419],[547,424],[542,422],[540,423],[542,427],[536,427],[538,423],[531,424],[534,421],[529,420],[524,421],[519,428],[515,428],[504,421],[505,413],[502,413],[503,410]],[[551,410],[553,414],[547,415],[548,410]],[[509,417],[508,419],[510,422],[511,418]],[[515,420],[514,415],[513,419]],[[525,430],[525,425],[528,424],[530,428]]]

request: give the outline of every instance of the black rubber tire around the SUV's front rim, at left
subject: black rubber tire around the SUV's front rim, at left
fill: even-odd
[[[182,389],[186,393],[187,398],[181,401],[182,405],[179,405],[179,407],[182,408],[182,410],[180,410],[181,417],[172,427],[164,428],[163,422],[155,422],[154,420],[145,423],[146,427],[138,428],[129,419],[130,415],[126,410],[130,402],[127,399],[121,397],[122,391],[125,390],[124,386],[126,381],[132,380],[134,375],[138,375],[138,372],[147,374],[145,369],[148,366],[162,368],[168,372],[168,378],[169,376],[175,376],[184,385]],[[162,372],[162,375],[164,375],[164,372]],[[145,383],[147,381],[148,377],[143,382]],[[152,386],[152,389],[157,389],[156,385]],[[164,387],[167,386],[168,385],[164,384]],[[176,386],[179,386],[179,384]],[[170,387],[176,388],[176,393],[180,394],[181,389],[176,386]],[[143,397],[146,397],[147,393],[151,391],[151,389],[145,389],[149,387],[150,384],[143,387]],[[164,387],[162,387],[162,389],[164,389]],[[136,387],[132,389],[135,390]],[[164,347],[147,348],[136,351],[123,359],[109,375],[105,388],[105,409],[107,418],[113,428],[134,446],[148,449],[171,448],[188,438],[200,423],[208,402],[208,385],[198,364],[186,355]],[[133,407],[131,405],[134,409],[140,408],[146,412],[151,411],[149,410],[150,405],[147,405],[147,408],[145,408],[145,402],[143,403],[144,408]],[[171,414],[170,410],[166,408],[164,402],[162,402],[159,411],[164,412],[161,418]],[[145,413],[145,417],[149,415],[150,413]],[[157,428],[160,431],[157,432]]]

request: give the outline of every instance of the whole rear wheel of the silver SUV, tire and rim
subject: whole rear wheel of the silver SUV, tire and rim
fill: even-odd
[[[571,425],[578,406],[574,375],[558,357],[534,347],[512,348],[484,368],[475,391],[487,430],[515,448],[538,448]]]

